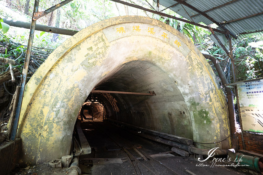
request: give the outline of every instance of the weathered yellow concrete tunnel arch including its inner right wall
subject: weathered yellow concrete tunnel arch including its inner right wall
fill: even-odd
[[[18,129],[20,164],[70,153],[77,114],[94,87],[157,94],[115,95],[121,110],[110,116],[113,119],[196,142],[230,134],[225,97],[191,41],[158,20],[122,16],[66,40],[28,81]],[[229,145],[228,139],[209,146]]]

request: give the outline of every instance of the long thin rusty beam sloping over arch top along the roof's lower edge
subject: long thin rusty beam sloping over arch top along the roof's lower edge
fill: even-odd
[[[161,15],[161,16],[166,16],[168,18],[176,19],[178,21],[183,21],[185,23],[193,24],[193,25],[198,26],[198,27],[203,27],[203,28],[206,28],[206,29],[210,29],[211,28],[211,27],[208,27],[208,26],[204,26],[202,24],[198,24],[198,23],[194,23],[194,22],[191,22],[191,21],[188,21],[188,20],[185,20],[185,19],[177,18],[177,17],[172,16],[172,15],[167,15],[167,14],[162,13],[162,12],[150,10],[150,9],[144,8],[142,6],[131,4],[131,3],[128,3],[128,2],[124,2],[124,1],[120,1],[120,0],[110,0],[110,1],[118,2],[118,3],[124,4],[126,6],[131,6],[131,7],[134,7],[134,8],[137,8],[137,9],[141,9],[141,10],[144,10],[144,11],[149,11],[151,13],[154,13],[154,14],[157,14],[157,15]],[[218,30],[218,29],[215,29],[215,28],[212,28],[212,29],[213,29],[213,31],[226,34],[226,31]]]

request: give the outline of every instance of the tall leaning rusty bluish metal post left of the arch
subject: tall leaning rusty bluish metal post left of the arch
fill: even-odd
[[[38,4],[39,4],[39,0],[35,0],[33,14],[38,11]],[[28,38],[28,46],[27,46],[26,57],[25,57],[25,62],[24,62],[24,68],[22,72],[22,79],[20,83],[19,97],[18,97],[17,107],[15,109],[15,118],[14,118],[13,128],[11,132],[11,138],[10,138],[11,140],[15,140],[16,138],[16,131],[18,127],[19,116],[20,116],[20,111],[21,111],[21,106],[22,106],[22,101],[23,101],[23,96],[24,96],[24,90],[25,90],[25,85],[26,85],[28,66],[30,62],[30,55],[31,55],[31,49],[32,49],[32,44],[33,44],[35,27],[36,27],[36,20],[33,20],[32,18],[30,33],[29,33],[29,38]]]

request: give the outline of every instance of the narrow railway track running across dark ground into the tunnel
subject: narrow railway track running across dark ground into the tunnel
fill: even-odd
[[[89,121],[89,122],[93,126],[97,127],[100,131],[102,131],[105,135],[107,135],[115,144],[117,144],[121,148],[121,150],[125,153],[136,175],[146,175],[146,174],[179,175],[174,170],[170,169],[166,165],[163,165],[158,160],[154,159],[153,157],[149,156],[145,152],[136,148],[129,140],[127,140],[126,138],[123,138],[123,136],[120,136],[118,133],[115,133],[114,135],[112,135],[101,124],[94,122],[94,121]],[[142,157],[142,160],[138,160],[136,154],[140,155]]]

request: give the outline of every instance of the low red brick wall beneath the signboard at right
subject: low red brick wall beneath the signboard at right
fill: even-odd
[[[243,132],[244,146],[242,143],[241,133],[237,133],[239,149],[257,152],[263,154],[263,135]]]

